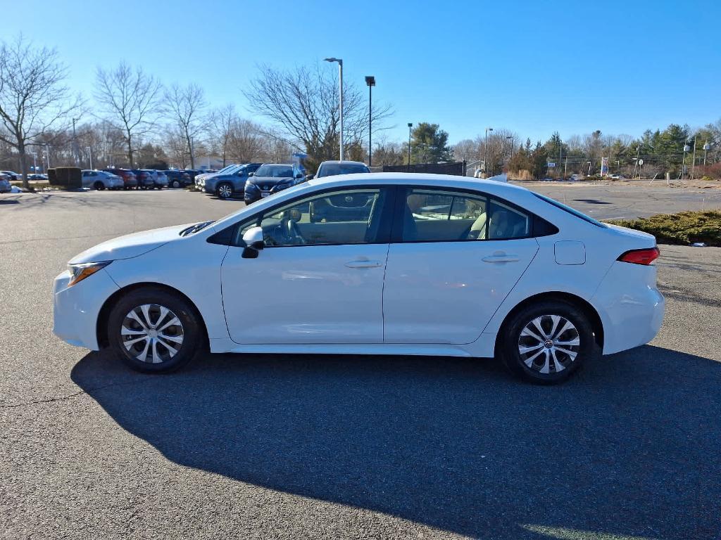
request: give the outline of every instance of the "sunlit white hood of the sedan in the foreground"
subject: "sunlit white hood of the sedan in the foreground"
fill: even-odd
[[[74,256],[68,264],[97,263],[99,261],[117,261],[121,258],[133,258],[159,248],[171,240],[182,238],[180,231],[193,225],[174,225],[162,229],[143,230],[141,233],[119,236],[107,242],[99,243]]]

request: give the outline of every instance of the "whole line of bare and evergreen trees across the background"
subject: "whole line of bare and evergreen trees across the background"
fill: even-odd
[[[0,45],[0,168],[17,163],[26,186],[31,166],[43,165],[44,170],[48,163],[197,168],[200,156],[218,156],[223,164],[288,161],[291,153],[300,151],[308,155],[306,168],[314,171],[321,161],[337,158],[335,70],[260,66],[244,96],[249,109],[268,125],[247,120],[233,104],[211,107],[198,84],[164,85],[126,62],[97,68],[92,103],[71,91],[67,78],[67,67],[55,49],[36,47],[22,36]],[[619,171],[622,166],[636,167],[643,160],[645,174],[676,174],[694,159],[686,156],[691,146],[696,149],[694,165],[721,161],[721,120],[695,130],[680,125],[647,130],[640,138],[597,130],[562,140],[554,133],[545,143],[535,144],[510,130],[495,129],[453,146],[438,124],[420,122],[410,127],[410,140],[399,143],[382,135],[392,107],[376,102],[369,109],[364,92],[352,82],[344,82],[343,96],[345,154],[367,161],[372,130],[376,165],[465,160],[484,165],[487,174],[509,171],[517,177],[541,178],[593,174],[606,157],[611,170],[614,165]],[[708,150],[701,150],[707,143]],[[555,163],[551,169],[549,162]]]

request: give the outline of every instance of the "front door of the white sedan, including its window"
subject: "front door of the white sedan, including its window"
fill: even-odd
[[[265,249],[221,267],[223,305],[236,343],[382,343],[389,228],[385,188],[335,189],[260,212]],[[324,217],[311,219],[321,207]],[[388,210],[390,210],[388,208]]]

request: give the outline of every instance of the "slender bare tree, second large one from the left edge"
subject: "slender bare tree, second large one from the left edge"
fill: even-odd
[[[120,62],[112,71],[97,68],[95,99],[104,109],[107,120],[123,130],[128,164],[133,167],[133,146],[153,127],[158,112],[162,85],[142,68],[131,68]]]

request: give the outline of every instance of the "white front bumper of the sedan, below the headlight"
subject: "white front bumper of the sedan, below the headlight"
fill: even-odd
[[[66,343],[97,351],[97,317],[102,305],[120,287],[105,269],[68,287],[70,272],[53,283],[53,333]]]

